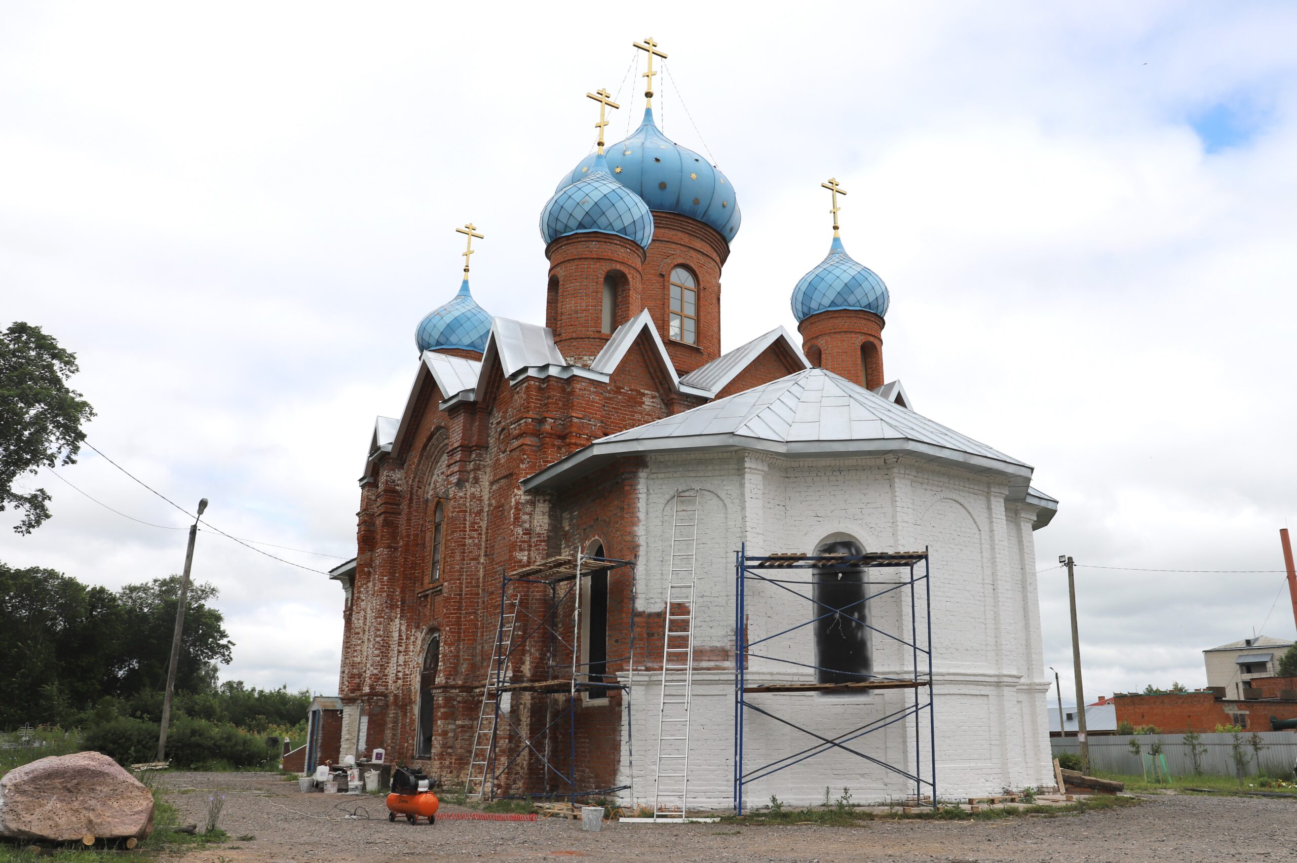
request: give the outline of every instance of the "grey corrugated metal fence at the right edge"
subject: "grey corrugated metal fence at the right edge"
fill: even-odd
[[[1254,776],[1257,772],[1268,775],[1292,774],[1293,765],[1297,763],[1297,733],[1291,731],[1262,731],[1263,749],[1253,750],[1250,745],[1252,732],[1243,732],[1239,739],[1243,744],[1243,755],[1246,758],[1246,775]],[[1200,772],[1208,776],[1237,776],[1239,768],[1235,766],[1233,735],[1208,733],[1198,736],[1198,766]],[[1172,776],[1193,775],[1193,758],[1189,746],[1184,742],[1184,735],[1104,735],[1089,739],[1091,770],[1105,774],[1127,774],[1139,776],[1144,772],[1140,765],[1141,757],[1130,750],[1130,741],[1139,740],[1140,752],[1147,753],[1149,745],[1162,744],[1162,754],[1166,755],[1166,767]],[[1080,744],[1075,737],[1051,737],[1049,744],[1054,755],[1069,752],[1080,753]],[[1202,750],[1206,752],[1202,752]]]

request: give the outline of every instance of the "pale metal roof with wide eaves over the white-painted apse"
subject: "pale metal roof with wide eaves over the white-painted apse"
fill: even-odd
[[[623,455],[757,450],[792,456],[905,452],[1009,479],[1023,500],[1031,466],[821,368],[601,438],[523,481],[560,485]]]

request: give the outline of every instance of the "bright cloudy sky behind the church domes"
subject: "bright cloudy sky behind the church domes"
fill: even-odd
[[[537,215],[591,148],[586,91],[619,95],[611,140],[638,122],[650,34],[659,124],[743,207],[725,347],[795,329],[837,176],[891,289],[888,377],[1062,500],[1036,548],[1065,692],[1061,553],[1091,700],[1294,635],[1278,571],[1134,571],[1279,570],[1297,527],[1291,4],[5,3],[0,325],[78,354],[109,457],[327,570],[415,324],[458,286],[453,228],[486,235],[479,301],[542,321]],[[112,587],[180,568],[179,512],[92,452],[61,473],[173,529],[42,476],[54,517],[0,530],[0,560]],[[336,583],[215,534],[195,577],[237,643],[224,678],[336,691]]]

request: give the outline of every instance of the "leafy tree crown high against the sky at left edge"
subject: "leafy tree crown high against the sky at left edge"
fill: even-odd
[[[67,378],[78,372],[77,355],[39,327],[16,321],[0,334],[0,512],[22,512],[14,525],[30,534],[49,518],[49,492],[17,491],[14,481],[40,468],[73,464],[95,409]]]

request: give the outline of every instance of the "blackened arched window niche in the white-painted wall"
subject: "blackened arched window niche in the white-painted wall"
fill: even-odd
[[[834,535],[821,542],[815,553],[859,556],[865,549],[850,536]],[[855,566],[811,573],[816,683],[864,683],[872,676],[866,571]]]

